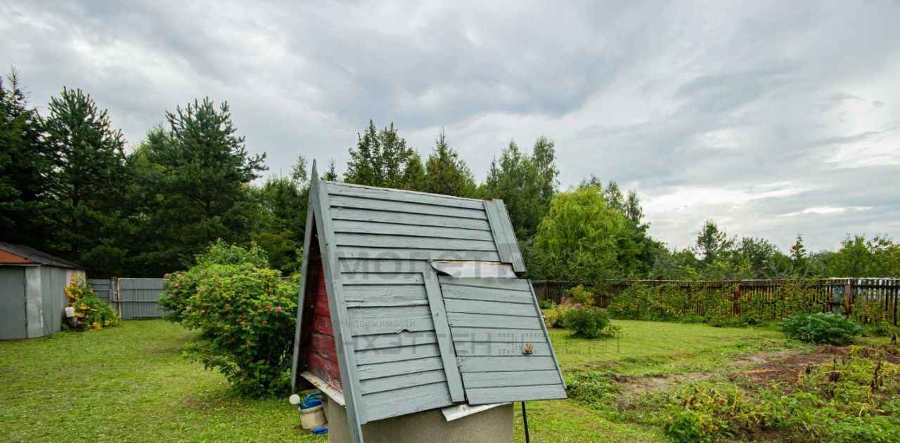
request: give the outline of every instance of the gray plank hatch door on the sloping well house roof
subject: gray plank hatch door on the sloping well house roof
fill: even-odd
[[[566,398],[528,280],[438,280],[470,404]]]

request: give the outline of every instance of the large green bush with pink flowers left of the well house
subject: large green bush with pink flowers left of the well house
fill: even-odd
[[[218,368],[238,394],[281,394],[291,376],[299,282],[255,260],[254,247],[213,244],[192,269],[166,274],[159,305],[168,320],[200,331],[185,353]]]

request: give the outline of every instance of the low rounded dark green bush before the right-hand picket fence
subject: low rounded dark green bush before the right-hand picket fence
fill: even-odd
[[[850,344],[860,334],[859,324],[834,313],[800,313],[779,323],[779,329],[791,339],[839,346]]]

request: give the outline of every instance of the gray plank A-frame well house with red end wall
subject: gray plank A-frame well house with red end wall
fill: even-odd
[[[356,442],[371,421],[566,398],[524,271],[501,200],[325,182],[314,164],[292,385],[342,403]]]

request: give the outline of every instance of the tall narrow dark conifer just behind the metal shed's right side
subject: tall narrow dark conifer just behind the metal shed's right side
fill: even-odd
[[[49,249],[89,264],[88,270],[112,273],[127,254],[121,236],[128,230],[125,140],[107,112],[80,89],[63,88],[48,109],[44,140],[54,161],[42,213],[49,223]]]

